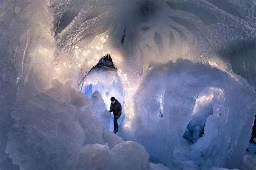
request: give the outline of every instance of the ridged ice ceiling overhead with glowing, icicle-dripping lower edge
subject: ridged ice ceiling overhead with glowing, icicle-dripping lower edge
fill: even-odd
[[[80,72],[80,84],[88,71],[85,66],[96,64],[102,52],[111,52],[119,60],[116,66],[120,76],[127,76],[127,81],[123,79],[126,96],[134,95],[142,73],[154,64],[175,61],[178,57],[208,63],[212,56],[208,53],[219,44],[229,44],[231,39],[255,39],[255,22],[249,14],[255,10],[253,1],[50,2],[56,23],[53,29],[69,21],[64,22],[66,27],[56,36],[55,62],[59,62],[62,53],[68,53],[73,69]],[[88,60],[91,56],[93,59]],[[213,56],[226,58],[218,52]],[[235,63],[233,60],[237,59],[228,60]],[[249,65],[254,68],[255,63]],[[250,76],[244,77],[251,81],[255,70],[241,69],[238,73],[247,72]],[[127,108],[133,107],[126,103]]]

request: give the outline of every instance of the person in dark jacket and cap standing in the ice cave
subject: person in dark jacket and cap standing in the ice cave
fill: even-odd
[[[117,119],[122,114],[122,106],[116,98],[111,97],[110,100],[111,100],[110,112],[113,112],[113,115],[114,115],[114,133],[116,134],[118,132]]]

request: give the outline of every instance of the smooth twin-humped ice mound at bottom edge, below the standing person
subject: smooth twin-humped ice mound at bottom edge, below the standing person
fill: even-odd
[[[163,165],[152,167],[161,167]],[[111,150],[106,145],[93,144],[79,148],[67,158],[64,169],[149,169],[149,154],[133,141],[124,141]]]

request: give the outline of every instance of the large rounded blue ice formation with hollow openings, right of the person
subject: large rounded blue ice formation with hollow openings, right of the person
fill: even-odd
[[[248,103],[254,98],[245,80],[214,67],[188,60],[158,65],[139,87],[131,136],[145,146],[151,161],[169,168],[239,167],[239,153],[250,139],[245,129],[251,131],[252,123],[246,117],[253,119],[255,108]]]

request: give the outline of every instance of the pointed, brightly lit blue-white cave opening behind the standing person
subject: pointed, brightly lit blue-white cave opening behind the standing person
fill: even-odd
[[[107,131],[113,131],[113,114],[109,112],[110,98],[115,97],[124,108],[124,92],[121,79],[117,74],[117,67],[114,66],[109,54],[100,58],[99,62],[87,73],[83,92],[93,102],[93,114],[102,121]],[[124,114],[118,119],[120,127],[123,120]]]

